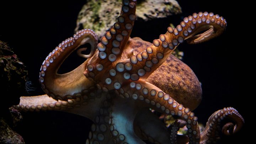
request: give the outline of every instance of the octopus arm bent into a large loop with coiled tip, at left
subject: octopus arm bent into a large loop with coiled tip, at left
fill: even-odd
[[[67,100],[76,98],[76,95],[81,95],[82,91],[89,89],[93,85],[91,81],[83,76],[88,60],[69,73],[58,74],[57,71],[68,55],[82,44],[89,43],[91,45],[91,53],[84,55],[79,51],[80,56],[89,58],[94,55],[97,41],[94,31],[84,29],[76,32],[74,37],[65,39],[49,53],[41,66],[39,75],[42,89],[47,95],[55,99]]]

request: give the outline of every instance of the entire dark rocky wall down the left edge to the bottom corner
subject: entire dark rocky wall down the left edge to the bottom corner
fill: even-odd
[[[0,143],[23,144],[21,135],[12,130],[21,121],[19,111],[10,108],[20,102],[22,91],[25,90],[27,71],[17,55],[0,41]]]

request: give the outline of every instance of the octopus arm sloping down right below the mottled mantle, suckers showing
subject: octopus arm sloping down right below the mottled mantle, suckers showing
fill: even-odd
[[[184,119],[187,122],[189,143],[196,144],[200,142],[198,118],[194,116],[194,113],[189,108],[183,107],[158,87],[148,82],[136,81],[136,83],[130,82],[118,87],[116,92],[120,97],[133,99],[141,103],[141,105],[146,105],[145,107]]]

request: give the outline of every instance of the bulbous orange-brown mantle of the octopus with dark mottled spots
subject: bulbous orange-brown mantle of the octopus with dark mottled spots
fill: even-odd
[[[143,41],[139,37],[130,38],[127,42],[128,48],[122,54],[122,59],[127,59],[130,55],[137,55],[151,45],[152,43]],[[172,54],[146,81],[170,94],[177,102],[191,110],[194,110],[202,100],[202,88],[197,76],[189,66]]]

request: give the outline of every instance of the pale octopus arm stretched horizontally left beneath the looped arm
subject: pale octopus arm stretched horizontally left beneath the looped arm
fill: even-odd
[[[97,98],[87,95],[69,99],[67,101],[55,100],[48,95],[22,96],[20,104],[15,106],[22,111],[64,111],[87,117],[94,121],[97,112],[100,111],[100,105],[106,97],[106,93],[96,94]],[[92,99],[94,101],[92,102]]]

